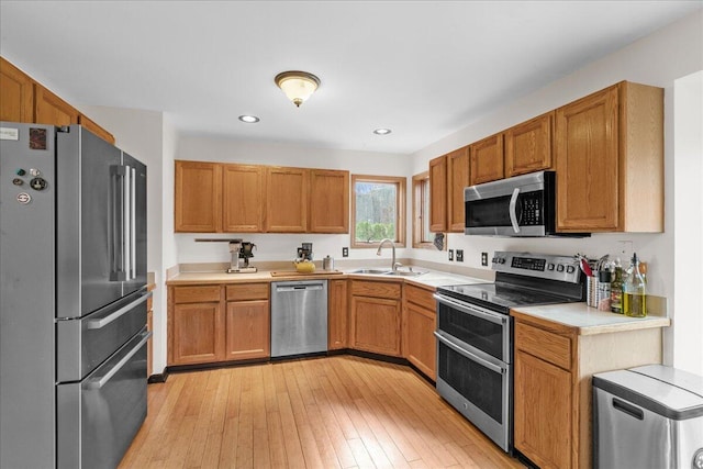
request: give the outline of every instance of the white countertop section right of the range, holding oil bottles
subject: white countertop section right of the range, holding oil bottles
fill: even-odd
[[[529,315],[572,327],[579,335],[605,334],[610,332],[634,331],[639,328],[667,327],[668,317],[652,316],[628,317],[589,308],[585,303],[549,304],[543,306],[521,306],[511,310],[511,314]]]

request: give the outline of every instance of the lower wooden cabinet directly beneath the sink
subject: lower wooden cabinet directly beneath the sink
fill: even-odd
[[[401,292],[395,282],[352,280],[350,348],[401,356]]]

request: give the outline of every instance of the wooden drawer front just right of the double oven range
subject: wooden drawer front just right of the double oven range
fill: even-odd
[[[517,322],[515,348],[565,370],[571,369],[571,339],[568,337]]]

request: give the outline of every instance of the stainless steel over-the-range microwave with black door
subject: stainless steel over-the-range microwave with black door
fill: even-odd
[[[555,171],[538,171],[464,189],[467,235],[589,236],[557,233]]]

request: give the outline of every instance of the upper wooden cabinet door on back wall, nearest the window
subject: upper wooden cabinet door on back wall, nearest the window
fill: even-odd
[[[349,171],[310,170],[310,233],[349,233]]]

